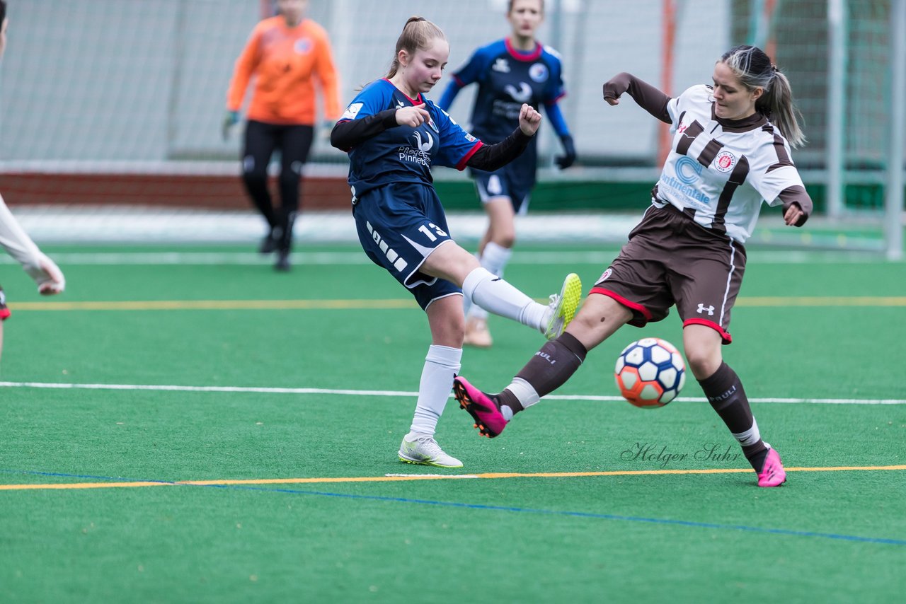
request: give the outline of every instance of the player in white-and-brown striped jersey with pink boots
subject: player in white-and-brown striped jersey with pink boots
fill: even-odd
[[[675,304],[689,369],[755,469],[758,486],[779,486],[786,482],[780,456],[762,440],[721,346],[732,341],[728,326],[746,268],[744,243],[762,202],[782,205],[791,226],[803,225],[812,211],[790,158],[790,148],[805,137],[789,81],[761,49],[737,46],[716,63],[713,85],[693,86],[675,99],[625,72],[603,89],[609,104],[628,92],[671,126],[672,149],[651,206],[563,335],[499,394],[457,378],[459,404],[483,435],[497,436],[516,413],[563,385],[589,350],[626,323],[660,321]]]

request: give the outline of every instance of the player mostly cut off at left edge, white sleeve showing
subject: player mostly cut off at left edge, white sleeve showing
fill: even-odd
[[[0,58],[6,47],[6,2],[0,0]],[[25,234],[18,221],[0,196],[0,246],[18,260],[25,272],[38,284],[38,292],[45,295],[63,292],[66,280],[53,260],[42,254],[31,237]],[[3,321],[9,318],[3,288],[0,287],[0,353],[3,352]]]

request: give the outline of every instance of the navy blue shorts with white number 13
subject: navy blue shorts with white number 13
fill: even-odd
[[[462,290],[419,271],[431,252],[453,239],[434,187],[398,183],[373,188],[352,206],[361,249],[406,286],[422,309]]]

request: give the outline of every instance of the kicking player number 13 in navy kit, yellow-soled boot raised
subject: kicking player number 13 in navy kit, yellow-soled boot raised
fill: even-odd
[[[431,345],[419,383],[419,400],[400,460],[460,467],[434,438],[462,359],[464,293],[490,312],[557,337],[573,319],[582,295],[575,274],[549,306],[498,279],[448,234],[447,217],[433,187],[431,166],[496,169],[528,146],[541,115],[518,111],[516,129],[485,145],[422,95],[440,80],[449,43],[435,24],[411,17],[397,41],[386,78],[352,100],[331,133],[334,147],[349,153],[352,215],[361,246],[415,296],[428,314]],[[392,367],[392,360],[386,360]],[[395,368],[393,368],[395,369]]]

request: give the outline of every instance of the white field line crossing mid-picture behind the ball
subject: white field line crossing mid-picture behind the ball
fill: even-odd
[[[418,392],[401,390],[352,390],[337,388],[264,388],[243,386],[178,386],[152,384],[63,384],[0,381],[0,388],[58,388],[82,390],[166,390],[171,392],[236,392],[255,394],[342,394],[359,397],[410,397]],[[547,395],[546,400],[623,401],[622,397],[597,395]],[[703,403],[705,398],[679,397],[686,403]],[[749,398],[752,403],[805,403],[809,405],[906,405],[906,398]]]

